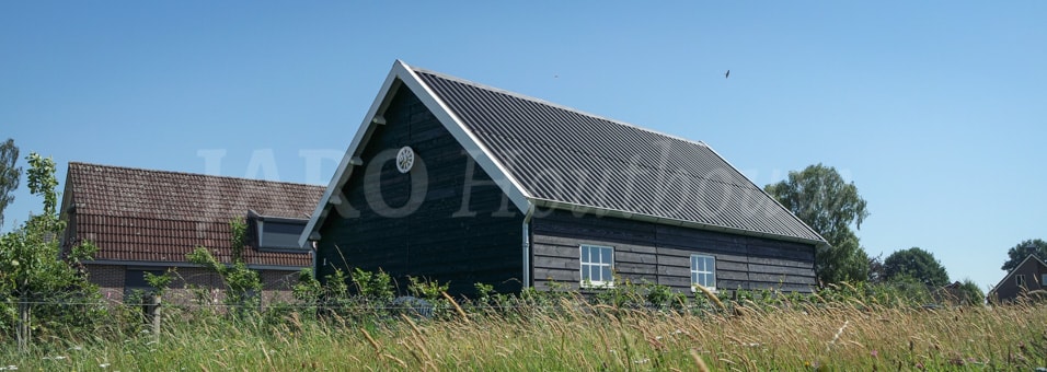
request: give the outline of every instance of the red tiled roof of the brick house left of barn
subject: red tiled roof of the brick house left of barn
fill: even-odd
[[[99,246],[97,260],[184,263],[196,246],[232,257],[229,221],[249,210],[307,219],[322,186],[69,163],[62,210],[73,241]],[[72,208],[72,209],[70,209]],[[249,240],[249,243],[251,240]],[[249,265],[309,266],[308,254],[244,248]]]

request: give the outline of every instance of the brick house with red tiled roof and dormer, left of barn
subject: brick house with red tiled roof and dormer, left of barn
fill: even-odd
[[[177,268],[171,298],[185,300],[187,286],[216,297],[221,279],[186,261],[205,246],[220,261],[232,258],[229,222],[248,222],[243,257],[261,271],[264,299],[288,297],[297,271],[312,265],[311,248],[298,244],[322,187],[278,182],[69,163],[61,213],[68,221],[64,247],[91,241],[99,251],[85,263],[88,279],[119,301],[150,289],[145,272]]]

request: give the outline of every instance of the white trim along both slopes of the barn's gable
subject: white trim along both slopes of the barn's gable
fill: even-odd
[[[513,178],[509,172],[506,171],[505,166],[494,160],[491,156],[491,152],[480,143],[476,137],[465,129],[465,126],[462,124],[462,120],[450,111],[450,107],[447,106],[440,98],[436,96],[432,89],[422,82],[418,79],[418,75],[414,73],[410,66],[404,63],[401,60],[396,60],[393,63],[392,70],[389,71],[389,74],[386,77],[386,82],[382,83],[381,90],[378,92],[378,96],[375,97],[375,101],[371,103],[371,107],[367,111],[367,115],[364,116],[364,120],[360,124],[359,129],[356,131],[356,136],[353,138],[353,142],[349,143],[348,149],[345,151],[345,155],[342,156],[342,162],[338,164],[338,168],[334,173],[334,177],[331,178],[331,182],[327,183],[327,187],[323,193],[323,196],[320,198],[320,202],[317,205],[317,208],[313,210],[312,216],[309,218],[309,223],[306,224],[306,229],[302,231],[301,236],[298,237],[298,243],[302,246],[309,241],[309,236],[320,228],[323,222],[323,219],[327,216],[327,209],[330,207],[330,201],[332,197],[338,193],[345,183],[353,175],[354,159],[359,156],[358,152],[363,151],[363,147],[368,140],[370,140],[370,135],[373,131],[373,127],[379,125],[376,124],[373,118],[377,115],[381,115],[389,105],[389,101],[392,100],[392,96],[396,93],[398,89],[401,85],[406,85],[412,93],[414,93],[426,108],[433,113],[440,124],[444,125],[451,136],[469,152],[469,154],[476,161],[476,164],[480,165],[487,175],[502,188],[502,191],[508,195],[509,200],[519,209],[520,211],[526,211],[529,208],[529,195],[524,191],[524,188],[520,187],[520,183]]]

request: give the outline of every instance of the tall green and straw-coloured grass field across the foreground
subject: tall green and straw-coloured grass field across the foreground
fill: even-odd
[[[48,336],[0,370],[1035,370],[1047,306],[924,310],[862,300],[730,311],[619,309],[562,300],[511,311],[449,310],[324,321],[296,312],[168,312],[159,341],[136,327]]]

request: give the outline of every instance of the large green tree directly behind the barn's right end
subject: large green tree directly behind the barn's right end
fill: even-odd
[[[868,217],[865,199],[858,194],[854,183],[843,182],[836,168],[818,163],[801,172],[789,172],[786,179],[767,185],[764,190],[829,243],[815,251],[815,270],[820,282],[868,278],[868,255],[851,230],[851,223],[861,229]]]

